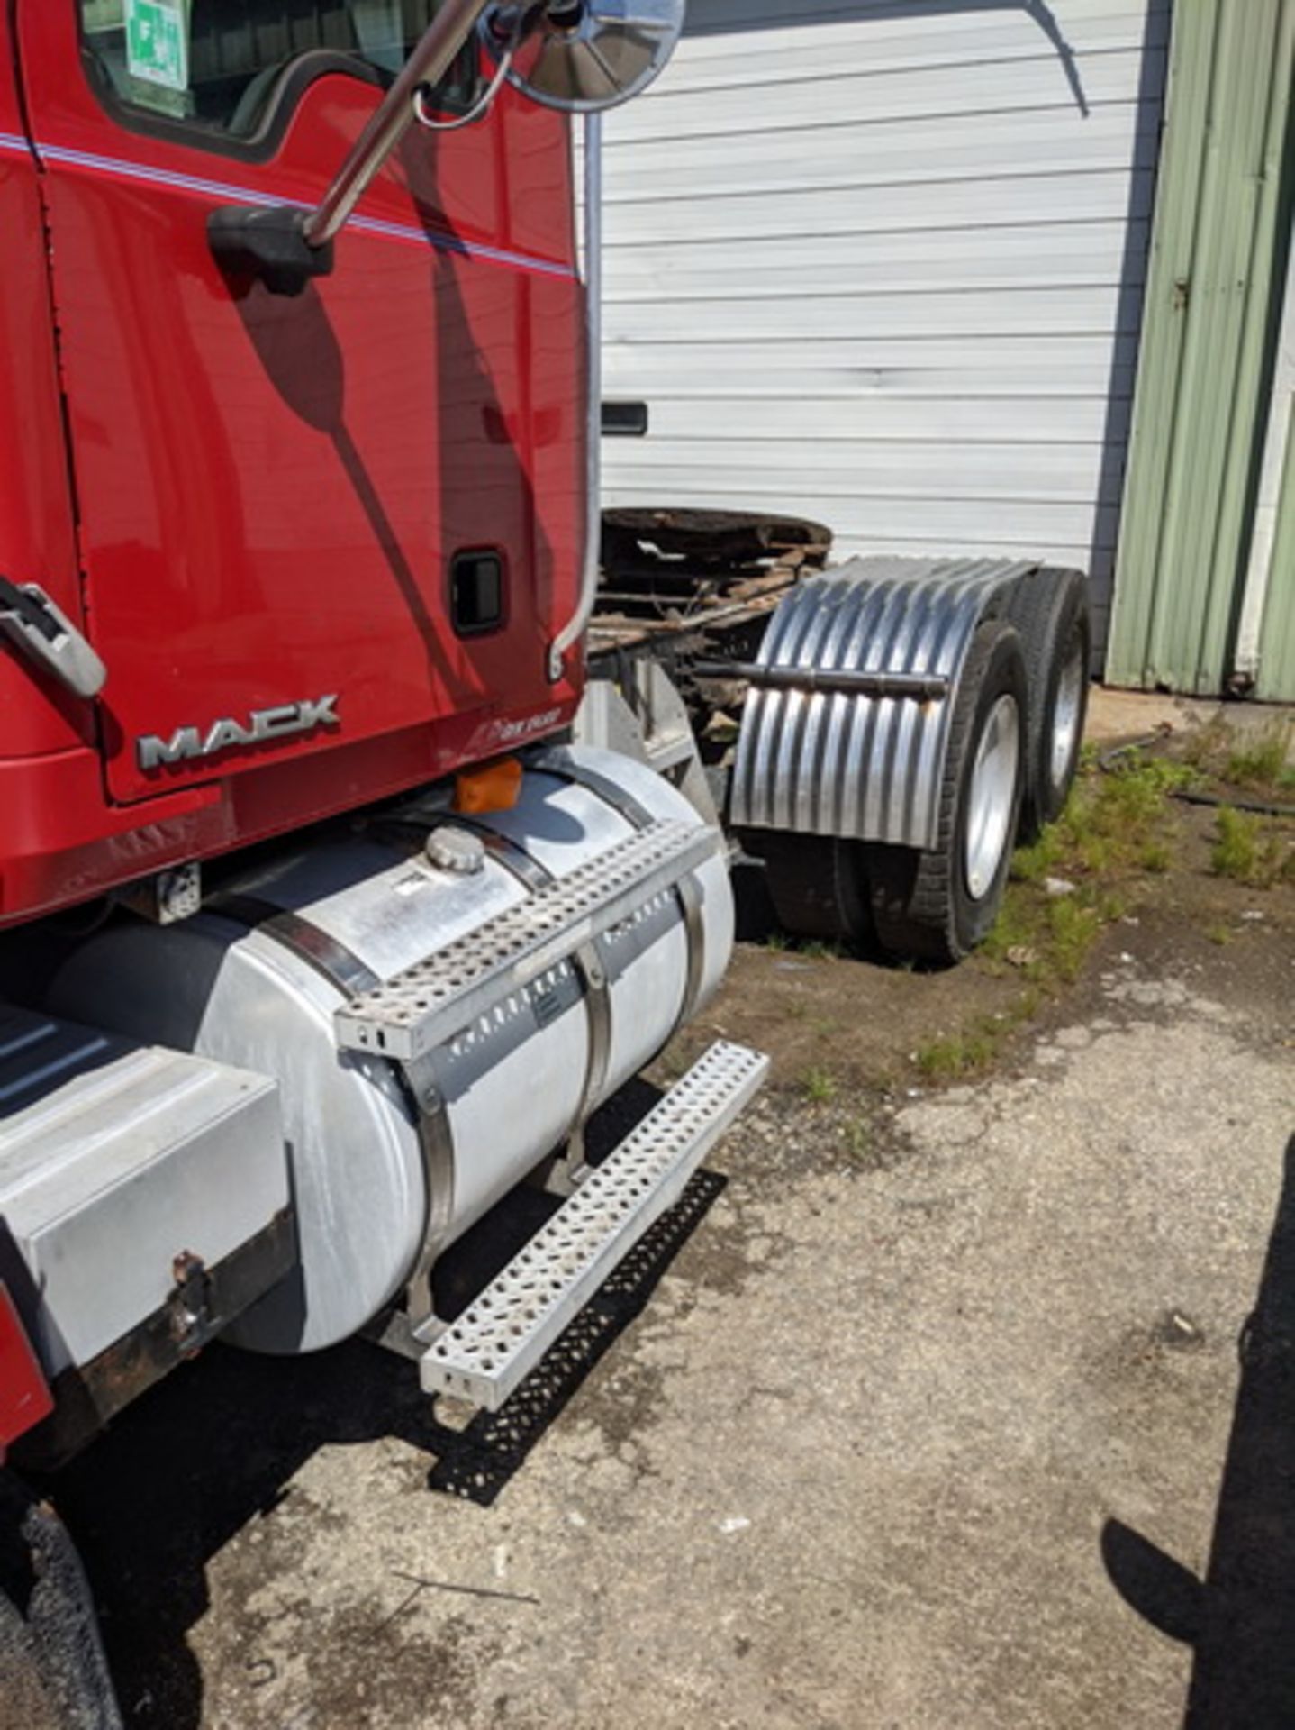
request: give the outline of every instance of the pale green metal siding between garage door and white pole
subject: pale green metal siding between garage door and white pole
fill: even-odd
[[[1231,671],[1292,64],[1295,0],[1177,0],[1107,659],[1117,685],[1215,694]]]

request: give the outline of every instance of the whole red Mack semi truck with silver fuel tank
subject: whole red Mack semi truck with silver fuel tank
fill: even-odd
[[[718,988],[738,848],[944,964],[1074,773],[1075,573],[747,524],[718,578],[662,509],[600,602],[600,112],[681,22],[0,9],[5,1727],[119,1723],[48,1486],[169,1368],[363,1334],[498,1408],[678,1201],[759,1054],[584,1128]]]

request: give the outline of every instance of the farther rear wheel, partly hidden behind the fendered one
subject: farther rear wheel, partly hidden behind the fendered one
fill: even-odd
[[[1024,576],[1008,604],[1020,631],[1029,708],[1020,839],[1034,841],[1062,815],[1079,766],[1088,714],[1093,625],[1081,571],[1044,566]]]

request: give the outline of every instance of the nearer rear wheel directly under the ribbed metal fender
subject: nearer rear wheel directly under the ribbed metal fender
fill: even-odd
[[[873,926],[892,955],[949,965],[994,924],[1020,813],[1025,701],[1020,637],[986,619],[954,695],[935,846],[868,849]]]

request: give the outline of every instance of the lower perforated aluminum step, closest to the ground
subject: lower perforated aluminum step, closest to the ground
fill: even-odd
[[[718,1040],[420,1360],[427,1393],[496,1412],[612,1268],[681,1195],[764,1081],[769,1059]]]

